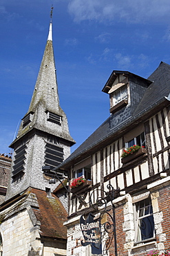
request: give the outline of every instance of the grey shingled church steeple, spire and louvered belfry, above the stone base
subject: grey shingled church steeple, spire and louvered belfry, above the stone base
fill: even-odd
[[[67,117],[59,104],[51,21],[30,107],[22,119],[17,138],[10,145],[14,148],[14,156],[6,199],[28,187],[42,190],[49,187],[42,167],[48,165],[53,169],[62,163],[70,155],[70,146],[74,143]]]

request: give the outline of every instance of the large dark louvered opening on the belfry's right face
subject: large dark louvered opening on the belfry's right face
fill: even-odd
[[[61,163],[63,163],[63,148],[58,145],[46,143],[45,165],[54,168]]]

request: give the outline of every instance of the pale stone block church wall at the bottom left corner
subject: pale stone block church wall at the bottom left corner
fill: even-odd
[[[39,230],[35,230],[30,221],[27,210],[18,212],[3,221],[0,226],[3,240],[3,255],[28,256],[28,251],[33,248],[42,255],[43,245],[37,240]]]

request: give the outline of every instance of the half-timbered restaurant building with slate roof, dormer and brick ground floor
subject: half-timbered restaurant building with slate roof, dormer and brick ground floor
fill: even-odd
[[[109,118],[59,166],[74,187],[67,256],[162,253],[170,248],[170,66],[161,62],[147,79],[113,71],[103,92]]]

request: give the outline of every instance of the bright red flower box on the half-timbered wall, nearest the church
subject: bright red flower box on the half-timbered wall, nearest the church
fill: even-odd
[[[79,177],[72,181],[70,185],[71,192],[76,193],[78,191],[83,190],[84,188],[87,188],[89,185],[92,185],[92,181],[87,181],[86,179]]]

